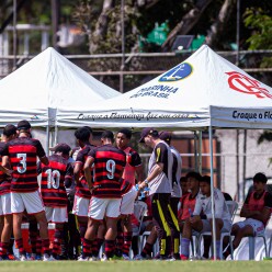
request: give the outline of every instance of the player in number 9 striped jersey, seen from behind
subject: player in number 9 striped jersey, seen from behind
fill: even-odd
[[[90,248],[103,219],[106,224],[105,256],[103,261],[113,257],[117,235],[117,220],[121,206],[121,179],[126,165],[126,155],[113,146],[114,136],[110,131],[101,136],[102,146],[89,151],[84,163],[84,175],[92,191],[88,213],[88,229],[83,241],[82,259],[88,260]],[[94,163],[94,179],[90,167]]]

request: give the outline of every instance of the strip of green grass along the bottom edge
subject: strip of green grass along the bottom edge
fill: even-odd
[[[110,261],[110,262],[8,262],[4,272],[269,272],[272,261]]]

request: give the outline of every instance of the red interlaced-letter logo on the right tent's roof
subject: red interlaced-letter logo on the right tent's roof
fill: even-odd
[[[237,71],[229,71],[226,73],[229,75],[228,84],[235,91],[254,94],[258,99],[272,99],[272,94],[267,89],[260,87],[258,80],[251,79]]]

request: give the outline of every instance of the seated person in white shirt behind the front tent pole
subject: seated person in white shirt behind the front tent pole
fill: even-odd
[[[212,231],[212,197],[211,197],[211,177],[204,175],[200,181],[201,192],[196,196],[195,208],[192,217],[185,220],[181,238],[181,259],[189,259],[189,246],[192,230]],[[229,231],[231,227],[230,215],[223,193],[214,188],[214,213],[216,228],[216,256],[219,257],[220,231]]]

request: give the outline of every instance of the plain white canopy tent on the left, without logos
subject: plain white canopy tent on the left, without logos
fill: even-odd
[[[52,47],[0,80],[0,126],[29,120],[34,127],[55,126],[60,106],[72,113],[120,95]]]

